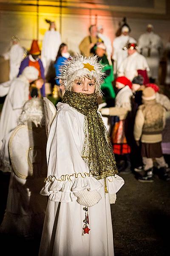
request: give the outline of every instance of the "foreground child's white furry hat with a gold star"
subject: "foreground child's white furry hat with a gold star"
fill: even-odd
[[[103,82],[104,73],[102,64],[97,61],[97,56],[84,57],[75,55],[71,57],[60,68],[59,79],[65,85],[66,90],[70,90],[73,82],[82,77],[88,76],[96,80],[96,93],[100,91],[100,84]]]

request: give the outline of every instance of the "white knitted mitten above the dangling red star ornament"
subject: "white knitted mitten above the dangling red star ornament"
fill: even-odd
[[[100,199],[102,198],[99,192],[97,190],[88,191],[80,190],[78,192],[74,192],[74,195],[77,196],[77,202],[81,205],[91,207],[95,204],[97,204]]]

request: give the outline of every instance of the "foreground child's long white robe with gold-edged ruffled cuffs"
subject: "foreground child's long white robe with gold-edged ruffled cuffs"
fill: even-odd
[[[68,104],[57,104],[47,143],[48,180],[41,190],[48,195],[40,256],[113,256],[113,231],[109,194],[124,184],[122,177],[96,180],[82,159],[85,116]],[[89,234],[82,236],[85,211],[74,192],[89,189],[101,195],[98,204],[88,209]],[[60,203],[59,203],[60,202]]]

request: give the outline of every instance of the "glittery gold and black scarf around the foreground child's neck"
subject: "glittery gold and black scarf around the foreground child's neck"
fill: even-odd
[[[116,161],[108,131],[97,112],[96,93],[65,91],[62,102],[85,115],[82,158],[87,163],[90,174],[97,180],[114,176],[118,173]]]

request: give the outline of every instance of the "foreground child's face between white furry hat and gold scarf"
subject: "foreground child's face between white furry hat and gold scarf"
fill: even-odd
[[[95,92],[95,81],[94,79],[88,79],[87,77],[81,77],[74,80],[72,91],[76,93],[91,94]]]

